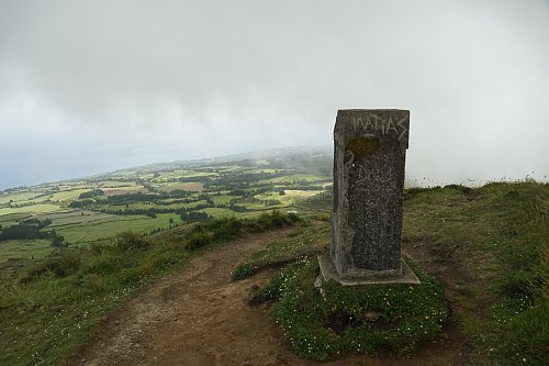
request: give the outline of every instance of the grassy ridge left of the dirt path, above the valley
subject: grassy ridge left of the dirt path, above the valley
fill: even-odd
[[[0,288],[0,364],[52,365],[85,342],[99,321],[152,278],[181,265],[202,246],[294,224],[278,212],[223,219],[154,241],[134,232],[89,248],[64,248]]]

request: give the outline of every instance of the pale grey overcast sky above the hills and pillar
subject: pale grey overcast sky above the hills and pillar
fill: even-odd
[[[549,176],[549,1],[0,0],[0,189],[332,144],[411,110],[407,177]]]

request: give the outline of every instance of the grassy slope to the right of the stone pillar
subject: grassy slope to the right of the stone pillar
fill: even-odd
[[[477,364],[549,358],[548,198],[536,182],[407,190],[404,241],[467,274],[450,301]]]

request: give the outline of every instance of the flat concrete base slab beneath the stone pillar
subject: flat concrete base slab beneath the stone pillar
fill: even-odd
[[[352,277],[340,277],[329,254],[318,256],[321,275],[325,281],[333,279],[344,286],[369,284],[421,284],[419,278],[417,278],[406,262],[403,259],[401,260],[402,270],[400,271],[377,271],[363,269]]]

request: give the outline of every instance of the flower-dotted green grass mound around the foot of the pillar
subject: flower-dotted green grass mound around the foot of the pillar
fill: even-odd
[[[435,340],[449,315],[440,284],[416,274],[421,285],[328,281],[321,291],[313,285],[317,260],[302,260],[274,277],[262,296],[280,297],[272,313],[302,357],[325,361],[349,352],[407,356]]]

